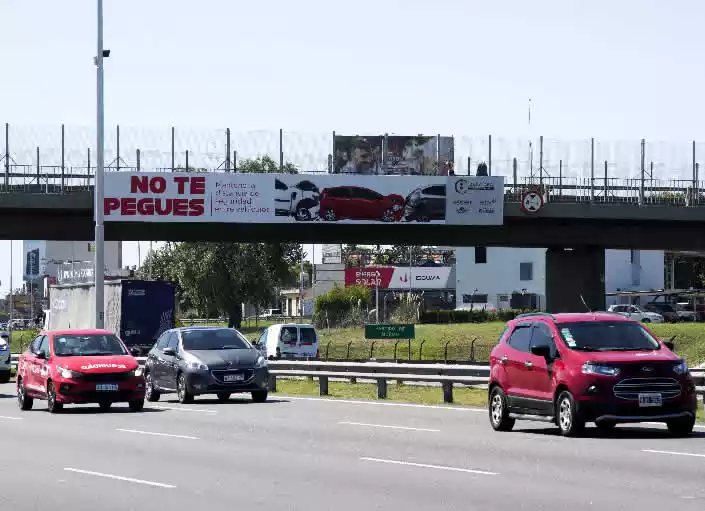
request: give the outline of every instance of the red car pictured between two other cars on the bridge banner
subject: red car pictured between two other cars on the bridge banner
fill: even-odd
[[[321,193],[321,217],[336,220],[397,222],[404,214],[404,197],[382,195],[361,186],[336,186]]]

